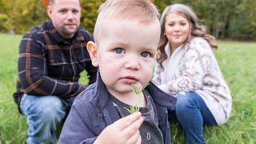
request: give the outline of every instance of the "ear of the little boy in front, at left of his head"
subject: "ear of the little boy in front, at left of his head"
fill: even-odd
[[[87,42],[87,50],[90,54],[91,63],[93,66],[98,67],[97,44],[92,41]]]

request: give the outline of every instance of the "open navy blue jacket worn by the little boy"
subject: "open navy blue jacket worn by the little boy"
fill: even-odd
[[[174,110],[176,98],[158,89],[152,82],[146,87],[158,112],[158,127],[165,143],[170,143],[168,110]],[[100,74],[94,84],[75,99],[62,128],[58,143],[93,143],[102,130],[121,118],[110,101]]]

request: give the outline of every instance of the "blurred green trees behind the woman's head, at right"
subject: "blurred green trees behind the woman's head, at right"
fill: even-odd
[[[160,11],[173,3],[190,6],[216,38],[256,39],[254,0],[155,0]]]

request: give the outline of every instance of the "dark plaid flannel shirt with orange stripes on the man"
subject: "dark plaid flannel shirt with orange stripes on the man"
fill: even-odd
[[[86,49],[92,35],[79,27],[74,38],[62,38],[52,22],[44,22],[25,34],[19,45],[18,83],[14,93],[19,103],[22,95],[55,95],[69,98],[85,86],[78,82],[87,71],[89,84],[95,82],[97,68],[92,66]]]

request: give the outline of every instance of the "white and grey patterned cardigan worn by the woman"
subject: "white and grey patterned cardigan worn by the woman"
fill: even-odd
[[[171,56],[169,44],[165,50],[164,70],[156,63],[153,82],[167,94],[194,91],[202,97],[218,125],[225,123],[230,117],[232,99],[209,43],[193,38]]]

